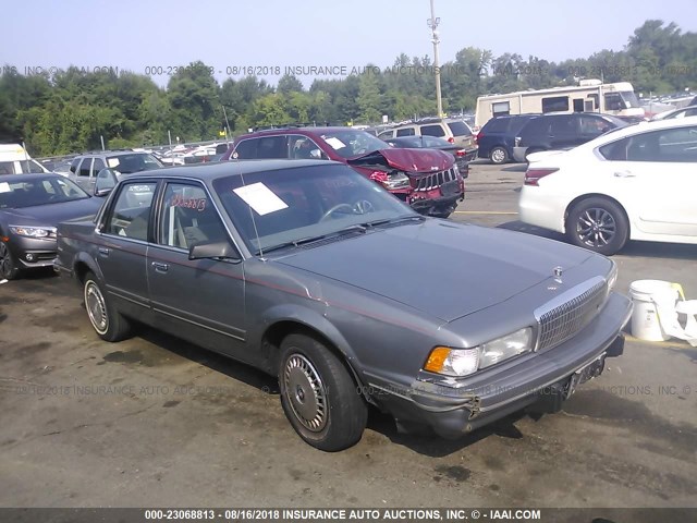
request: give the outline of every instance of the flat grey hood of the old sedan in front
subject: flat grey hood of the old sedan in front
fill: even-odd
[[[502,229],[427,219],[276,258],[443,321],[501,303],[592,253]]]

